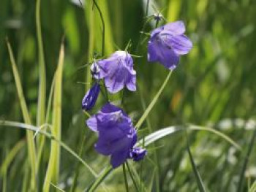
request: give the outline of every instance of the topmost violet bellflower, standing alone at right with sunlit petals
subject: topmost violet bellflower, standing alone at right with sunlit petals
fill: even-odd
[[[154,29],[148,42],[148,61],[159,61],[167,69],[175,69],[180,55],[185,55],[192,49],[192,42],[184,32],[182,21]]]

